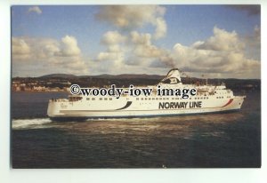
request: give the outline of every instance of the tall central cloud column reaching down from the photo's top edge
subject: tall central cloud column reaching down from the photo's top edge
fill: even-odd
[[[166,51],[152,44],[166,36],[166,8],[158,5],[108,5],[101,6],[95,15],[97,20],[108,22],[118,28],[101,37],[101,44],[107,47],[99,52],[96,61],[116,68],[128,66],[150,66],[151,61],[166,58]],[[135,29],[151,25],[153,34],[139,33]]]

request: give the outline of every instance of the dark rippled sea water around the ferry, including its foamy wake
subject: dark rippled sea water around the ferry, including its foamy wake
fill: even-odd
[[[53,122],[48,99],[12,92],[13,168],[190,168],[261,166],[261,94],[239,112]]]

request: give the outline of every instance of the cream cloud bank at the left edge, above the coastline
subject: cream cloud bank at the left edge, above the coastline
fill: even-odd
[[[48,73],[85,74],[87,65],[74,36],[64,36],[61,41],[51,38],[12,37],[12,73],[28,75]],[[31,73],[32,74],[32,73]]]

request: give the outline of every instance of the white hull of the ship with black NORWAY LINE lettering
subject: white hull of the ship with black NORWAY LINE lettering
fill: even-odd
[[[118,117],[146,117],[160,115],[195,115],[206,113],[227,112],[239,110],[244,96],[231,99],[177,99],[163,98],[158,100],[136,100],[134,98],[87,101],[86,98],[69,102],[66,99],[49,101],[47,114],[52,119],[70,118],[118,118]],[[164,100],[165,99],[165,100]],[[180,106],[175,106],[177,102]],[[181,105],[184,102],[184,105]],[[201,106],[192,103],[201,102]],[[161,107],[160,104],[161,103]],[[166,106],[164,105],[166,103]],[[171,104],[174,103],[174,104]]]

